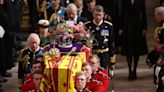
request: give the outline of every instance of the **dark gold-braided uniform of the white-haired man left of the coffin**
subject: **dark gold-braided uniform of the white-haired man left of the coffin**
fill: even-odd
[[[29,48],[20,51],[18,59],[18,79],[20,79],[20,84],[23,83],[24,76],[31,72],[32,62],[35,57],[42,54],[41,48],[36,52],[30,51]]]

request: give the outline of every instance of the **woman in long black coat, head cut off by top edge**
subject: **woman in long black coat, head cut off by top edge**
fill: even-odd
[[[121,9],[122,22],[119,31],[123,37],[121,54],[127,57],[129,80],[135,80],[139,56],[148,53],[145,37],[147,30],[145,0],[123,0]]]

